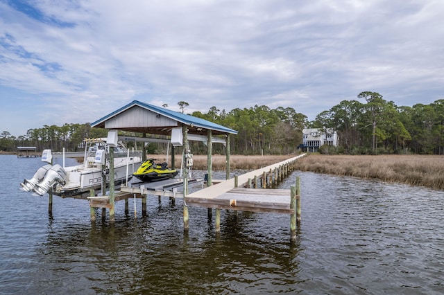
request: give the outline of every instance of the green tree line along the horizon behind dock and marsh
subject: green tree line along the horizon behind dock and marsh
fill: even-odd
[[[179,102],[182,112],[189,104]],[[179,104],[178,103],[178,104]],[[167,105],[164,105],[167,107]],[[237,130],[230,135],[232,154],[291,154],[302,143],[302,129],[334,129],[339,147],[325,146],[321,152],[341,154],[444,154],[444,100],[429,105],[398,107],[384,100],[381,94],[364,91],[356,100],[343,100],[331,109],[322,111],[313,121],[292,107],[271,109],[255,105],[244,109],[218,109],[191,114],[219,125]],[[29,129],[26,135],[15,137],[9,132],[0,134],[0,150],[15,152],[17,146],[35,146],[37,150],[51,148],[76,151],[84,138],[106,137],[107,130],[92,128],[89,123],[62,126],[44,125]],[[133,132],[124,135],[140,136]],[[131,144],[131,143],[129,143]],[[162,144],[148,145],[148,152],[164,152]],[[191,143],[194,153],[205,153],[203,143]],[[223,145],[214,145],[214,153],[224,153]]]

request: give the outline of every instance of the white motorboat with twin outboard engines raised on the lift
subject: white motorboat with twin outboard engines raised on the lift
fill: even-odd
[[[51,150],[44,150],[42,161],[49,164],[39,168],[31,179],[24,179],[22,190],[44,195],[52,188],[54,195],[60,197],[85,197],[89,190],[99,190],[109,186],[110,182],[110,146],[107,138],[85,139],[85,153],[83,164],[62,167],[59,164],[51,165]],[[114,185],[126,183],[133,177],[142,163],[140,154],[131,155],[126,147],[119,141],[114,147]]]

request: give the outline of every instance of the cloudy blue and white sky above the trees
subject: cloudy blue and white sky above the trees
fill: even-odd
[[[133,100],[308,120],[362,91],[429,104],[444,98],[443,15],[442,0],[0,0],[0,132]]]

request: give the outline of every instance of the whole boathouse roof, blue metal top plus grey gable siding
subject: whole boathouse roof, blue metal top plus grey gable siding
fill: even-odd
[[[217,134],[237,134],[236,130],[202,118],[171,111],[145,102],[133,100],[111,114],[91,123],[92,127],[119,129],[150,134],[171,134],[171,129],[188,125],[190,134],[206,135],[207,130]]]

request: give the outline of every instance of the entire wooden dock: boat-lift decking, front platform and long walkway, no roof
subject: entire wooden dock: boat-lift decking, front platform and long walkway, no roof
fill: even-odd
[[[207,184],[206,188],[186,195],[183,191],[183,182],[158,181],[154,183],[136,183],[130,186],[121,186],[120,191],[110,195],[96,196],[91,192],[89,207],[91,208],[91,220],[96,220],[95,208],[102,208],[102,217],[106,208],[112,210],[114,203],[125,200],[125,212],[128,213],[129,199],[142,199],[142,216],[146,216],[146,198],[148,195],[169,197],[171,202],[176,198],[185,198],[183,207],[184,230],[189,229],[188,207],[208,208],[209,217],[212,209],[216,211],[216,232],[220,232],[221,209],[233,211],[268,212],[288,214],[290,217],[291,240],[296,239],[296,226],[300,224],[300,179],[296,177],[296,183],[290,189],[276,189],[275,187],[295,170],[295,163],[305,154],[275,163],[271,166],[247,172],[244,175],[235,176],[225,181],[214,180]],[[189,179],[189,186],[203,186],[203,180]],[[178,190],[182,189],[182,191]],[[271,188],[271,189],[266,189]],[[110,215],[111,221],[112,215]]]

